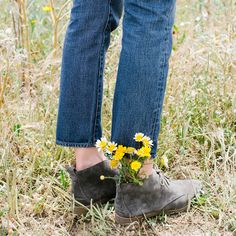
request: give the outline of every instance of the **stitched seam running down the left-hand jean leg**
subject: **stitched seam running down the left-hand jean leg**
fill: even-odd
[[[96,111],[95,111],[95,121],[94,121],[94,132],[93,132],[93,142],[96,142],[96,135],[97,135],[97,129],[98,129],[98,109],[99,106],[101,106],[100,101],[100,96],[101,96],[101,81],[102,79],[102,68],[103,68],[103,63],[104,63],[104,46],[105,46],[105,34],[106,34],[106,29],[108,27],[109,21],[110,21],[110,12],[111,12],[111,0],[109,0],[109,8],[108,8],[108,18],[105,24],[105,27],[103,29],[103,35],[102,35],[102,44],[100,48],[100,53],[99,53],[99,69],[98,69],[98,80],[97,80],[97,96],[96,96]]]

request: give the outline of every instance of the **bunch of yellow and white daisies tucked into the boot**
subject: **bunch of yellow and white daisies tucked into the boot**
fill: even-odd
[[[145,161],[151,158],[151,147],[153,141],[150,137],[139,132],[134,136],[139,148],[126,147],[122,144],[109,142],[105,137],[98,139],[96,148],[103,151],[104,155],[110,160],[112,169],[118,169],[115,177],[118,183],[133,183],[142,185],[146,176],[140,172]],[[101,176],[102,180],[108,177]]]

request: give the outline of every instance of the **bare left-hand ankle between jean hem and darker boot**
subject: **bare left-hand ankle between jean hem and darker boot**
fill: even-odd
[[[103,152],[98,152],[96,147],[75,148],[76,170],[84,170],[104,160]]]

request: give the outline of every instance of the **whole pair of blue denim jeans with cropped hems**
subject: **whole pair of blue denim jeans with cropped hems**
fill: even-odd
[[[103,70],[124,9],[111,140],[137,147],[142,132],[156,156],[172,49],[175,0],[73,0],[62,56],[56,144],[93,147],[102,137]]]

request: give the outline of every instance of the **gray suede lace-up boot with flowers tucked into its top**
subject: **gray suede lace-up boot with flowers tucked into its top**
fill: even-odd
[[[142,186],[122,183],[116,189],[115,221],[128,224],[161,212],[185,211],[200,190],[198,180],[169,180],[160,171],[144,180]]]

